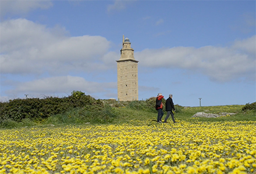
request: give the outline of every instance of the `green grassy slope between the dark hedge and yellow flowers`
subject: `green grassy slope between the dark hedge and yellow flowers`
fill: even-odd
[[[139,104],[141,102],[138,102]],[[143,104],[144,106],[144,104]],[[63,125],[83,125],[83,124],[140,124],[140,121],[147,121],[148,125],[156,124],[157,111],[150,108],[145,109],[139,106],[136,109],[134,103],[129,107],[109,107],[95,108],[84,107],[74,108],[67,111],[64,114],[56,114],[46,119],[23,119],[22,122],[15,122],[6,119],[0,125],[1,128],[19,128],[25,126],[63,126]],[[177,122],[189,121],[189,122],[223,122],[223,121],[256,121],[255,110],[242,111],[244,105],[233,106],[207,106],[207,107],[176,107],[175,119]],[[236,113],[236,115],[230,115],[227,117],[218,118],[192,118],[197,112],[205,113]],[[166,112],[162,120],[165,118]],[[172,124],[172,118],[169,117],[168,122]]]

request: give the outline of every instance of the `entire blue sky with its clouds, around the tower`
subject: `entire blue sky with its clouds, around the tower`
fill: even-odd
[[[128,37],[138,97],[181,106],[256,101],[255,1],[0,1],[1,102],[81,90],[117,99]]]

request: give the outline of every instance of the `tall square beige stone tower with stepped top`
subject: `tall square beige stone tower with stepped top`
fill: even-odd
[[[118,100],[138,100],[138,61],[134,59],[134,49],[123,35],[123,48],[118,63]]]

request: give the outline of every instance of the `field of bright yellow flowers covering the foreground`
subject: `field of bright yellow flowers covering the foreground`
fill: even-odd
[[[256,173],[256,122],[0,130],[0,173]]]

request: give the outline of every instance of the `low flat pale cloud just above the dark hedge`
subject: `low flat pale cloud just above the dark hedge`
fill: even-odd
[[[108,92],[108,89],[115,89],[116,82],[98,83],[86,81],[81,77],[73,77],[70,75],[61,77],[49,77],[42,79],[35,79],[29,82],[20,82],[15,89],[6,90],[6,93],[14,95],[22,95],[24,93],[30,96],[38,94],[70,94],[73,90],[81,90],[87,94],[97,92]]]

